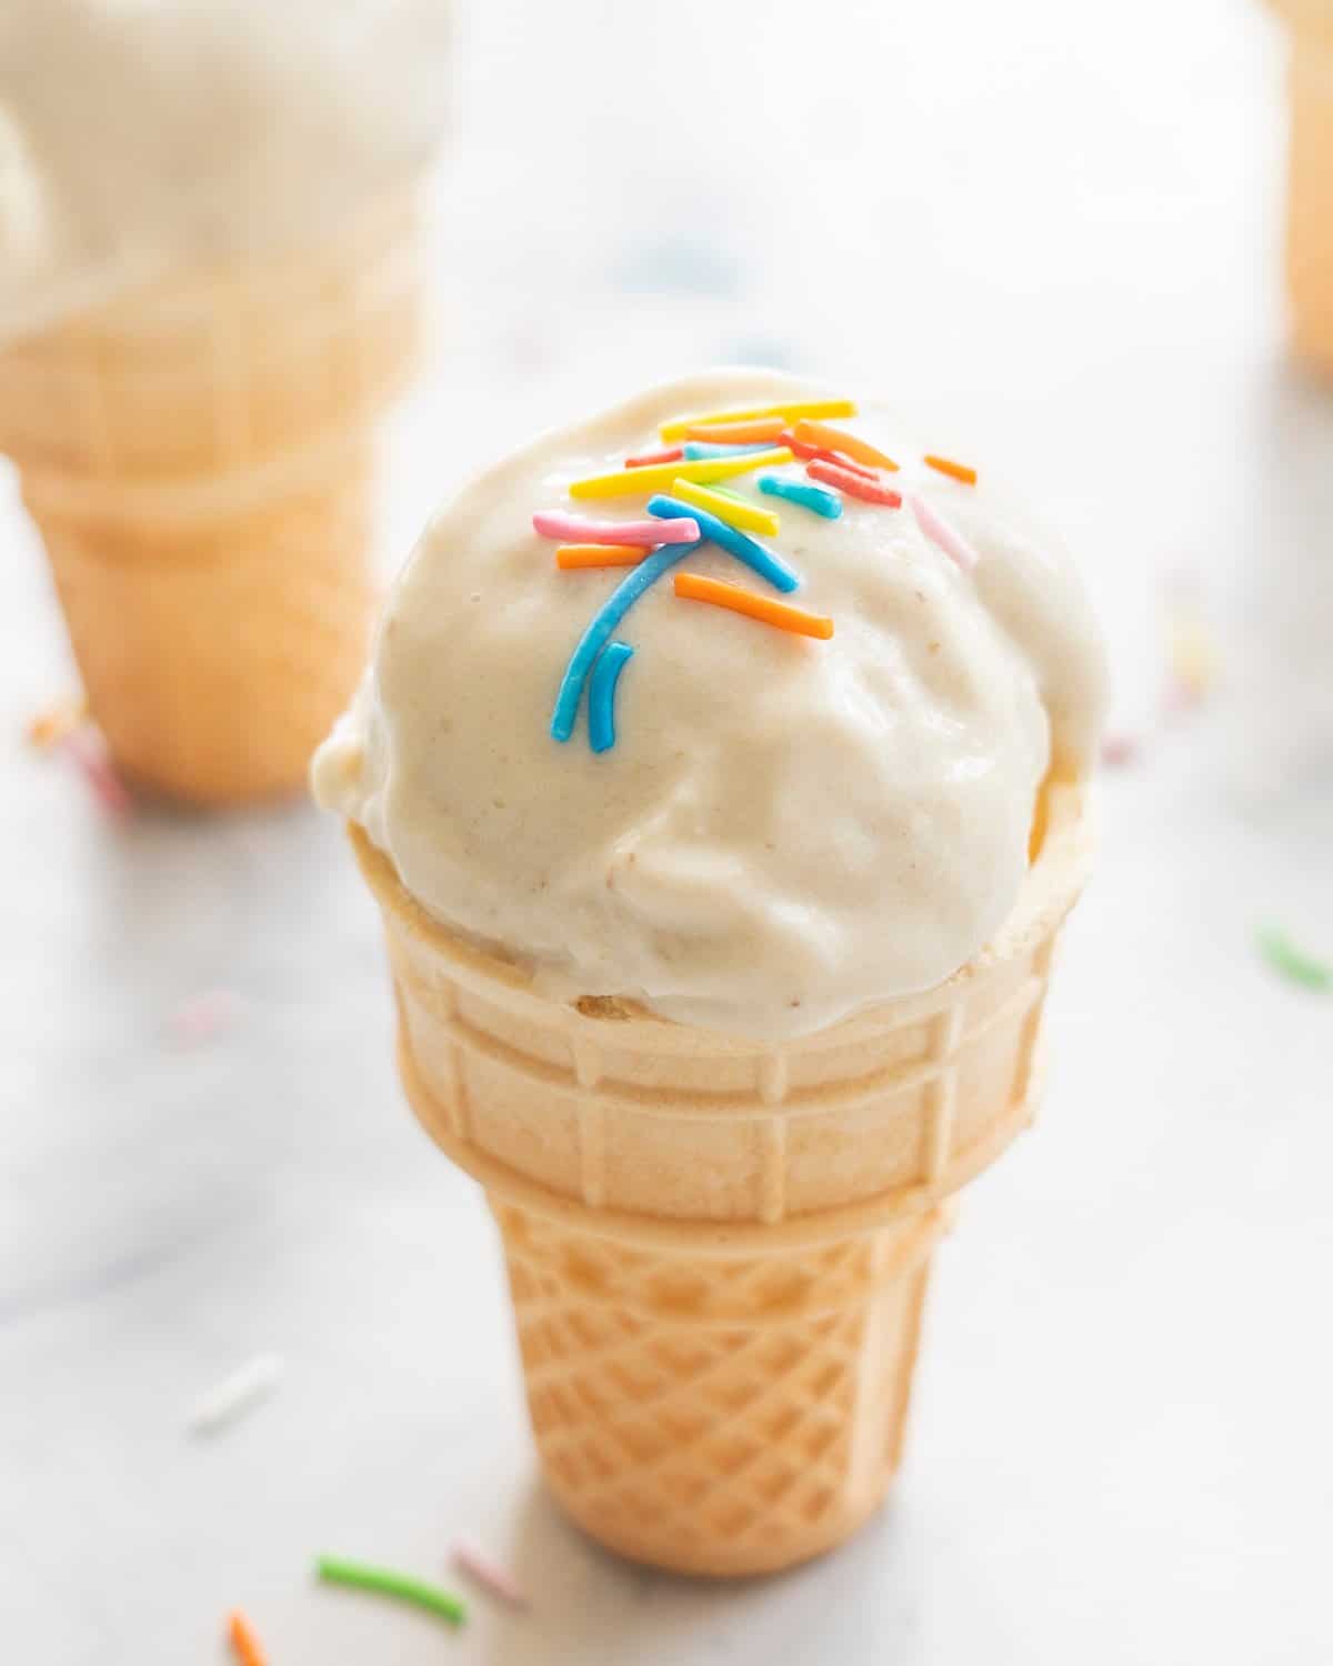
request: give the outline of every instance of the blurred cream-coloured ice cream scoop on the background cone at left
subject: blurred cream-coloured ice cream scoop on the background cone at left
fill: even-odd
[[[7,0],[0,333],[318,237],[438,142],[448,0]]]

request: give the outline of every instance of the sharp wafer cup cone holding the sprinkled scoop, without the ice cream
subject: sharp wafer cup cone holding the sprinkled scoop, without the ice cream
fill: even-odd
[[[353,843],[408,1098],[500,1223],[552,1489],[613,1549],[693,1573],[846,1538],[898,1461],[945,1200],[1031,1116],[1081,793],[1050,795],[995,945],[785,1046],[545,1001]]]

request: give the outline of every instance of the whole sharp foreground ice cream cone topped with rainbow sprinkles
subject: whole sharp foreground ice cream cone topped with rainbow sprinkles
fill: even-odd
[[[770,408],[765,451],[673,435]],[[948,1200],[1033,1111],[1101,658],[960,473],[766,373],[550,435],[433,521],[317,756],[547,1479],[643,1561],[776,1569],[876,1508]],[[557,565],[533,511],[625,565]],[[653,518],[693,525],[637,560]]]

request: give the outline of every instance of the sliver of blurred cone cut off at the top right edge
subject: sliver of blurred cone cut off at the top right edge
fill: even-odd
[[[1296,352],[1333,377],[1333,0],[1273,0],[1290,28],[1286,285]]]

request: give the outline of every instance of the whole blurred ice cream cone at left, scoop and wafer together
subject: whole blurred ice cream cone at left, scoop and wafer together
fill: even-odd
[[[363,663],[438,102],[383,113],[413,43],[438,82],[442,13],[358,43],[255,0],[0,25],[25,62],[0,83],[0,451],[92,716],[148,788],[293,790]]]

